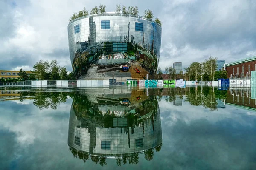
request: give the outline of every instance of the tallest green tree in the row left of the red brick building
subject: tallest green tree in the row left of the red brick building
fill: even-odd
[[[215,70],[217,67],[217,58],[210,56],[203,62],[205,72],[210,76],[211,80],[214,80]]]

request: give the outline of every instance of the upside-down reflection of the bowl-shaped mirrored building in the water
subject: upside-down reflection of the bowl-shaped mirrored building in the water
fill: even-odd
[[[128,88],[114,95],[104,91],[110,90],[82,91],[74,97],[68,135],[72,152],[121,159],[160,147],[161,119],[156,97]]]

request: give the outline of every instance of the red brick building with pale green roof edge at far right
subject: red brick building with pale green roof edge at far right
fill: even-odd
[[[227,77],[233,79],[250,79],[250,72],[256,70],[256,56],[249,57],[225,65]]]

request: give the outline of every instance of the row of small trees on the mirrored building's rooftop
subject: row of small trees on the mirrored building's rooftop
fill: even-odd
[[[90,14],[105,14],[106,13],[106,5],[100,4],[99,8],[97,6],[93,7],[92,10],[90,11]],[[128,8],[126,8],[126,6],[122,6],[121,8],[121,4],[117,4],[116,5],[116,14],[120,14],[122,12],[122,14],[129,14],[129,15],[133,15],[134,17],[138,17],[138,13],[139,13],[139,8],[137,6],[128,6]],[[84,7],[83,10],[79,11],[79,12],[75,12],[73,13],[73,15],[70,17],[69,22],[71,22],[72,20],[75,20],[76,18],[79,17],[83,17],[83,16],[88,16],[89,15],[89,11],[87,11]],[[146,9],[144,12],[144,17],[147,18],[148,20],[153,20],[154,15],[153,12],[149,9]],[[160,24],[160,26],[162,26],[161,20],[159,18],[155,18],[155,21],[157,23]]]

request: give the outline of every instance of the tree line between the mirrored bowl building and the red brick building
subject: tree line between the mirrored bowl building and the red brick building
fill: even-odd
[[[204,62],[192,62],[188,67],[185,67],[185,73],[180,71],[176,74],[175,68],[170,66],[165,68],[165,73],[169,74],[169,79],[183,78],[186,80],[199,80],[203,81],[216,81],[218,78],[227,79],[227,71],[216,71],[217,68],[217,58],[210,56],[205,59]],[[161,68],[157,69],[158,77],[162,74]]]

